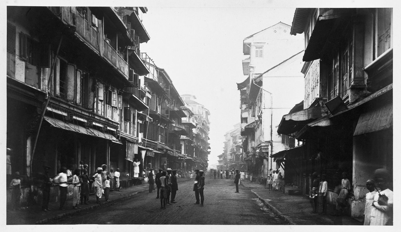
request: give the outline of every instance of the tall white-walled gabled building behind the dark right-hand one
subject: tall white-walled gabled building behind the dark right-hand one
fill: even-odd
[[[280,163],[273,166],[272,158],[269,162],[269,154],[285,149],[281,135],[273,130],[282,115],[297,103],[296,96],[302,97],[298,86],[303,77],[299,68],[304,39],[291,36],[290,29],[290,25],[279,22],[243,41],[243,74],[247,78],[237,84],[241,135],[248,172],[256,181],[266,178],[270,168],[282,168],[284,174]]]

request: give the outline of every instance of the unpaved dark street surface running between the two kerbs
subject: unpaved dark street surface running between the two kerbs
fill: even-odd
[[[235,193],[233,180],[206,179],[205,206],[194,205],[193,181],[178,184],[177,203],[160,209],[156,192],[142,192],[132,199],[100,210],[67,217],[55,224],[247,224],[285,225],[255,195],[242,186]],[[168,217],[166,216],[168,215]]]

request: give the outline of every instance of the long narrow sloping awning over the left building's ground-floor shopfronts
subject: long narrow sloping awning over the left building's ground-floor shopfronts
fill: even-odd
[[[80,126],[80,125],[74,124],[74,123],[66,123],[63,120],[53,118],[51,116],[45,116],[43,119],[45,119],[46,122],[49,122],[49,124],[51,126],[54,126],[54,127],[57,127],[57,128],[63,129],[63,130],[69,130],[71,132],[77,132],[79,134],[85,134],[85,135],[94,136],[94,137],[98,137],[98,138],[104,138],[104,139],[110,140],[111,142],[122,144],[119,140],[117,140],[117,138],[115,138],[113,135],[111,135],[108,132],[102,132],[102,131],[97,130],[92,127],[86,128],[84,126]]]

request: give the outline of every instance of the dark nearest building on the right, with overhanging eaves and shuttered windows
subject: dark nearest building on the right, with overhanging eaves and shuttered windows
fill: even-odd
[[[292,154],[302,157],[303,193],[313,172],[327,174],[335,204],[347,172],[349,213],[359,217],[366,180],[377,168],[393,172],[393,9],[297,8],[291,34],[302,33],[304,107],[278,130],[304,142]]]

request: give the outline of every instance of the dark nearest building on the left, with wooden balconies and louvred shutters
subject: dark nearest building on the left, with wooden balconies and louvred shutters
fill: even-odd
[[[135,9],[123,19],[110,7],[7,8],[7,147],[12,171],[26,176],[22,202],[43,165],[52,175],[82,160],[89,172],[107,164],[132,176],[123,160],[137,153],[129,144],[138,142],[137,112],[148,108],[132,77],[149,73],[138,53],[149,36],[133,19],[147,9]]]

